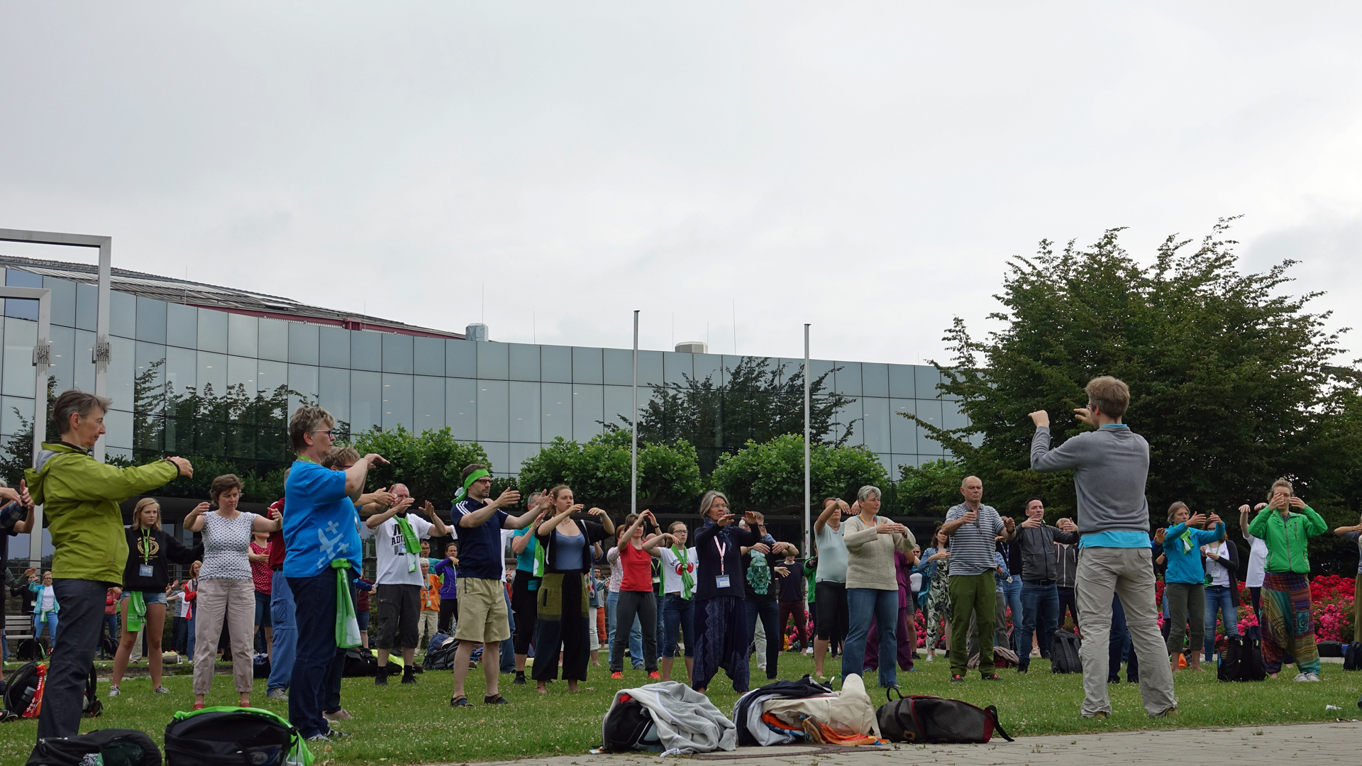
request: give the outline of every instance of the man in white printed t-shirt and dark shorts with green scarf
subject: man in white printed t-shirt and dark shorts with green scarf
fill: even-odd
[[[417,683],[413,660],[417,654],[421,624],[421,540],[433,532],[437,537],[449,534],[434,507],[426,502],[425,511],[430,521],[407,512],[411,507],[411,492],[405,484],[394,484],[388,492],[394,497],[392,507],[369,517],[361,534],[373,537],[373,549],[379,557],[375,593],[379,598],[379,672],[373,676],[377,686],[388,686],[388,654],[394,645],[402,647],[402,683]]]

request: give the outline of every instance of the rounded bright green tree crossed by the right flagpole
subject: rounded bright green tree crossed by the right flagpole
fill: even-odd
[[[767,442],[748,442],[719,457],[710,477],[734,508],[775,514],[802,514],[804,436],[785,433]],[[809,488],[814,507],[823,497],[854,499],[872,484],[889,495],[889,474],[880,458],[864,446],[813,444],[809,450]]]

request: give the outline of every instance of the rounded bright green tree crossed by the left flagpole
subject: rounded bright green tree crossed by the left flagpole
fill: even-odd
[[[629,432],[607,431],[577,444],[557,438],[520,466],[522,492],[567,484],[579,503],[607,511],[629,510]],[[639,443],[639,507],[689,510],[703,492],[695,447]]]

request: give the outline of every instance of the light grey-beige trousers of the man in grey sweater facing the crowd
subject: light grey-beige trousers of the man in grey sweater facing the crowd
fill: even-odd
[[[1121,597],[1130,649],[1140,661],[1140,698],[1150,716],[1177,707],[1173,671],[1159,632],[1154,602],[1154,566],[1148,548],[1084,548],[1075,596],[1083,632],[1083,717],[1111,713],[1107,696],[1111,592]]]

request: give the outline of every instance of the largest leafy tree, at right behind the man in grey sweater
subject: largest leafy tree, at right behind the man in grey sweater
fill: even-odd
[[[1324,368],[1339,335],[1308,309],[1317,293],[1286,293],[1294,262],[1241,273],[1227,229],[1220,221],[1196,244],[1169,237],[1148,264],[1121,247],[1120,229],[1015,258],[997,296],[1005,311],[992,315],[1002,327],[977,338],[956,319],[945,335],[953,360],[938,365],[941,388],[970,425],[918,424],[983,478],[986,502],[1012,512],[1039,493],[1069,514],[1072,474],[1030,470],[1027,413],[1049,410],[1060,443],[1084,428],[1072,409],[1087,403],[1086,383],[1114,375],[1130,386],[1126,423],[1150,442],[1155,519],[1173,500],[1230,518],[1279,476],[1309,492],[1352,438],[1325,428],[1340,408]]]

